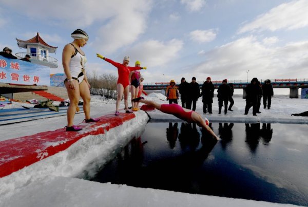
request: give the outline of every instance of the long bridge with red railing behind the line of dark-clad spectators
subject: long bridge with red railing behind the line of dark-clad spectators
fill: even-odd
[[[265,79],[267,80],[267,79]],[[259,80],[261,84],[264,84],[265,80]],[[290,98],[298,98],[298,88],[308,88],[308,79],[269,79],[272,82],[273,88],[290,88]],[[179,86],[181,82],[177,82],[176,85]],[[197,81],[200,85],[200,89],[204,81]],[[222,81],[212,81],[215,89],[217,89]],[[247,80],[228,80],[228,83],[233,83],[235,89],[243,89],[243,98],[246,97],[245,88],[251,83]],[[156,82],[156,83],[143,83],[144,90],[161,90],[166,89],[169,82]]]

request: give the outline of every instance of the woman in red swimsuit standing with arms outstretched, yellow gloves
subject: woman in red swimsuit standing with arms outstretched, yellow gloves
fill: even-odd
[[[103,55],[98,54],[98,53],[97,53],[97,57],[107,61],[108,63],[111,63],[113,66],[118,68],[118,74],[119,74],[118,83],[117,83],[118,96],[117,96],[117,102],[115,104],[115,116],[118,116],[120,114],[119,106],[120,106],[120,102],[121,102],[123,94],[124,94],[124,105],[125,105],[125,110],[126,110],[125,112],[127,114],[132,113],[131,111],[128,110],[128,100],[127,100],[128,95],[129,95],[129,78],[128,78],[128,76],[129,76],[130,71],[146,69],[146,67],[129,67],[129,66],[127,66],[128,63],[129,63],[129,57],[127,57],[127,56],[124,57],[123,64],[114,62],[110,59],[107,59]]]

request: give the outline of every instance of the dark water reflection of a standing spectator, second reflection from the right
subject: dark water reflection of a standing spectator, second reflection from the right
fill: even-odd
[[[252,153],[256,152],[261,137],[260,123],[245,124],[246,143]]]

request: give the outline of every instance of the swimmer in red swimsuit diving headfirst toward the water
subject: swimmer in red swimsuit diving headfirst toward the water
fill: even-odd
[[[137,99],[133,99],[133,102],[141,102],[145,103],[149,106],[153,106],[156,109],[166,113],[171,114],[179,119],[182,119],[184,121],[187,121],[188,123],[197,123],[198,126],[204,128],[208,131],[209,134],[211,134],[213,137],[215,137],[217,140],[220,140],[220,138],[215,135],[214,131],[211,130],[211,128],[208,126],[209,122],[206,118],[202,118],[200,114],[198,114],[196,111],[182,108],[182,106],[178,104],[159,104],[155,101],[147,101],[144,100],[143,97],[139,97]]]

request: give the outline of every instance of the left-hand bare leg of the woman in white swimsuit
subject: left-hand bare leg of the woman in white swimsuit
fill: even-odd
[[[67,89],[67,95],[69,98],[69,107],[67,109],[67,126],[70,127],[74,125],[74,117],[75,117],[75,112],[76,112],[76,107],[78,107],[78,102],[79,102],[79,96],[80,96],[80,91],[79,91],[79,83],[76,80],[73,80],[74,84],[74,90],[69,88],[67,85],[67,82],[65,83],[65,87]]]

